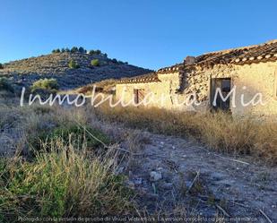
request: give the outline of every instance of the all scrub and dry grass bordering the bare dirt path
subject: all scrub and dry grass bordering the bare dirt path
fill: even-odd
[[[277,164],[276,124],[237,120],[223,113],[1,103],[0,116],[0,131],[9,137],[1,142],[1,222],[16,222],[19,217],[148,215],[139,210],[127,176],[117,171],[125,159],[123,154],[129,153],[118,152],[114,135],[103,131],[103,124],[188,137],[211,150]],[[129,136],[123,137],[130,153],[140,154],[138,148],[147,139],[137,138],[133,132],[128,130]],[[131,159],[126,162],[132,166]]]

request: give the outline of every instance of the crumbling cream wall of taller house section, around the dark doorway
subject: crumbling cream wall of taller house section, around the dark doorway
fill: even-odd
[[[185,72],[182,85],[186,86],[179,98],[187,94],[196,93],[196,98],[201,106],[196,110],[207,110],[210,107],[210,80],[211,78],[231,78],[231,87],[236,87],[230,96],[231,112],[234,116],[277,116],[277,62],[259,64],[216,64],[210,68],[195,66]],[[245,107],[244,103],[254,99],[260,93],[265,105],[258,103]],[[255,98],[255,102],[259,98]],[[232,107],[235,103],[235,107]]]

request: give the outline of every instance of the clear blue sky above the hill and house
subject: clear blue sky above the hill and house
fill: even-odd
[[[56,47],[101,49],[158,69],[277,39],[275,0],[2,0],[0,62]]]

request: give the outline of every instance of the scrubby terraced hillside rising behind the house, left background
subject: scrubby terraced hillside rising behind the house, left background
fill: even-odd
[[[91,64],[92,60],[97,60],[97,64]],[[80,67],[70,68],[70,61],[74,61]],[[4,64],[4,69],[0,69],[0,78],[8,78],[17,87],[30,86],[32,82],[41,78],[55,78],[60,89],[65,90],[95,81],[132,77],[149,72],[151,71],[109,59],[102,54],[63,52]]]

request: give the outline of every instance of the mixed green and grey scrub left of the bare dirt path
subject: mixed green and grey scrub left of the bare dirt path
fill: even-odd
[[[1,222],[134,211],[134,193],[116,174],[117,147],[83,110],[1,105],[0,116],[1,131],[14,133],[1,151]]]

